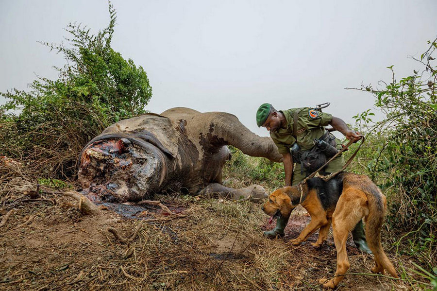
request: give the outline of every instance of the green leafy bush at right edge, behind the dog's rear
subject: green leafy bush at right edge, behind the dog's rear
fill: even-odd
[[[367,158],[366,170],[389,198],[388,221],[399,238],[395,245],[427,267],[437,261],[436,40],[417,59],[421,70],[397,81],[391,66],[393,78],[384,88],[360,88],[374,94],[384,120],[370,126],[369,111],[355,116],[372,147],[358,157]]]

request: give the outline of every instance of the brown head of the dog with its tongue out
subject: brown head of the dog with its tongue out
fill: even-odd
[[[261,208],[267,215],[279,218],[289,217],[291,211],[297,206],[291,203],[287,192],[291,191],[293,187],[284,187],[275,190],[269,195],[269,200]]]

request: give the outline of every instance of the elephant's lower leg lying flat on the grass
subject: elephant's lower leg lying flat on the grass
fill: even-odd
[[[257,202],[267,198],[266,190],[260,185],[252,185],[242,189],[235,189],[225,187],[218,183],[211,183],[204,188],[200,194],[231,200],[249,199],[252,202]]]

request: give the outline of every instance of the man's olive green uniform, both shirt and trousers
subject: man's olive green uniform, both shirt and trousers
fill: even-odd
[[[293,133],[294,112],[299,110],[296,131]],[[325,126],[329,125],[332,120],[332,115],[325,112],[320,112],[312,108],[291,108],[281,111],[287,121],[286,128],[280,128],[277,132],[270,133],[270,137],[278,147],[280,154],[290,153],[290,147],[296,142],[303,151],[309,151],[314,146],[314,139],[319,139],[325,134]],[[296,138],[295,138],[296,137]],[[296,140],[297,139],[297,140]],[[337,149],[341,149],[341,141],[336,138]],[[299,161],[293,161],[296,165],[293,168],[293,176],[291,185],[296,185],[301,182],[307,175],[303,171],[301,173],[301,164]],[[324,169],[327,173],[332,173],[341,170],[344,166],[343,155],[337,156]]]

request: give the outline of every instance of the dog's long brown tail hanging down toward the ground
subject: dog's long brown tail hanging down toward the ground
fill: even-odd
[[[371,181],[367,184],[367,198],[369,201],[369,215],[366,222],[366,239],[369,243],[370,250],[375,256],[374,273],[384,273],[384,269],[393,277],[398,278],[393,264],[388,260],[386,253],[381,244],[381,228],[384,222],[384,215],[387,208],[386,197],[381,190]]]

